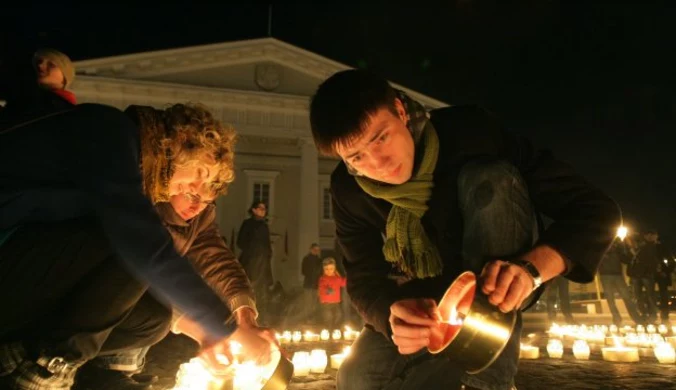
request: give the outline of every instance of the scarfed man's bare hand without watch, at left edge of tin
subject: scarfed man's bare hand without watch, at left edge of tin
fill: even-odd
[[[427,347],[439,321],[441,314],[433,299],[404,299],[390,306],[392,341],[403,355]]]

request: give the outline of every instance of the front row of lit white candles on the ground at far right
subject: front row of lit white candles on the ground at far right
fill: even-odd
[[[660,363],[674,363],[676,350],[666,342],[657,343],[653,348],[639,349],[633,346],[624,346],[620,340],[615,340],[615,345],[601,348],[603,360],[609,362],[637,362],[641,356],[654,355]],[[579,360],[589,360],[591,349],[585,340],[575,340],[573,343],[573,356]],[[559,339],[550,339],[547,343],[547,354],[550,358],[560,359],[563,356],[563,343]],[[519,354],[521,359],[537,359],[540,349],[536,346],[521,344]]]

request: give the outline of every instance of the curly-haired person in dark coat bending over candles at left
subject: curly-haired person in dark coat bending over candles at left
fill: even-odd
[[[154,344],[167,331],[147,321],[160,302],[199,325],[211,361],[231,339],[269,357],[274,341],[237,327],[153,209],[204,185],[224,190],[229,135],[198,106],[137,117],[151,125],[93,104],[19,123],[0,113],[0,293],[11,302],[0,320],[0,387],[69,389],[101,352]]]

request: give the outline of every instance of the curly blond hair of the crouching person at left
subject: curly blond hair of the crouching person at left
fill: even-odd
[[[164,110],[169,137],[164,140],[175,167],[207,165],[214,173],[208,186],[224,195],[235,180],[235,129],[214,118],[199,104],[174,104]]]

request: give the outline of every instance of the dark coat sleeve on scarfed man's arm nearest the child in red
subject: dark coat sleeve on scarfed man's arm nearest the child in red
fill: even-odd
[[[362,217],[364,205],[341,189],[341,183],[332,176],[336,235],[345,255],[347,292],[353,305],[378,332],[389,338],[390,306],[398,299],[396,283],[388,279],[391,266],[385,261],[380,231]]]

